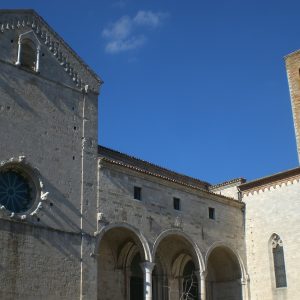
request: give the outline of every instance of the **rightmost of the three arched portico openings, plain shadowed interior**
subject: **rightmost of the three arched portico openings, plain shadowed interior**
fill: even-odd
[[[207,262],[207,300],[241,300],[241,267],[238,258],[227,247],[212,250]]]

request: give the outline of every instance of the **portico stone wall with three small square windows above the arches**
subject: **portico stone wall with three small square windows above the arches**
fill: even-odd
[[[141,200],[134,199],[134,186],[141,187]],[[174,197],[180,199],[180,211],[173,207]],[[106,228],[111,226],[120,228],[130,226],[129,228],[145,238],[145,243],[150,249],[151,260],[156,264],[158,264],[156,259],[160,258],[165,266],[169,266],[174,264],[175,253],[184,253],[193,257],[199,273],[205,272],[212,248],[225,246],[237,255],[236,260],[241,263],[240,272],[245,275],[245,270],[242,270],[246,268],[244,204],[239,201],[172,183],[118,164],[100,161],[98,207],[98,212],[101,214],[98,227],[100,236],[101,232],[105,232]],[[214,220],[209,218],[209,207],[215,209]],[[167,239],[168,232],[170,237]],[[161,239],[164,234],[165,238]],[[125,241],[118,244],[116,233],[109,231],[106,233],[106,238],[110,240],[111,246],[105,247],[105,240],[101,247],[100,238],[100,252],[97,252],[103,261],[102,264],[105,264],[104,268],[98,269],[99,278],[103,270],[107,271],[103,280],[98,279],[100,284],[98,299],[117,299],[116,293],[120,289],[108,287],[112,280],[117,281],[118,284],[124,281],[124,273],[122,273],[124,269],[118,269],[116,264],[118,253],[113,248],[120,249]],[[195,248],[199,249],[200,261],[195,255]],[[185,259],[184,255],[182,259]],[[115,267],[111,266],[113,263]],[[167,283],[172,300],[177,299],[181,289],[179,277],[172,273],[175,272],[174,268],[174,266],[170,269],[166,267],[166,273],[175,276],[169,278]],[[240,286],[240,282],[237,282],[237,285]],[[99,294],[104,298],[99,298]],[[127,299],[125,294],[126,292],[122,297],[118,295],[118,299]],[[231,296],[232,294],[228,293],[227,298]],[[239,299],[240,295],[236,296]],[[224,297],[227,299],[226,296]]]

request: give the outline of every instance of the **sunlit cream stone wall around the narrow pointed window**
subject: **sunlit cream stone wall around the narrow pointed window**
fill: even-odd
[[[245,191],[246,245],[252,300],[299,299],[299,178]],[[247,193],[246,193],[247,192]],[[246,193],[246,194],[245,194]],[[287,287],[276,288],[270,239],[283,241]]]

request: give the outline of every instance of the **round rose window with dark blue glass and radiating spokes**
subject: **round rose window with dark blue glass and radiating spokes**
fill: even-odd
[[[14,213],[24,213],[36,198],[35,184],[18,165],[0,169],[0,205]]]

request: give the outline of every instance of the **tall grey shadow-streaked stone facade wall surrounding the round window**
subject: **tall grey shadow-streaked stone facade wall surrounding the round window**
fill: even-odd
[[[18,19],[26,22],[17,26]],[[0,211],[0,298],[90,300],[97,294],[91,254],[97,230],[98,91],[76,84],[80,68],[85,80],[96,80],[37,20],[32,11],[0,12],[0,163],[26,164],[48,193],[40,197],[38,188],[32,209],[22,216]],[[41,45],[38,72],[16,65],[19,36],[30,31]],[[68,53],[72,65],[61,53]]]

